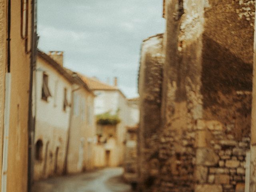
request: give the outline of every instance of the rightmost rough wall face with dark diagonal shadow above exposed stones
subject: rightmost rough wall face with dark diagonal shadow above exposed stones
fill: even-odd
[[[252,2],[210,0],[202,49],[202,120],[196,126],[196,192],[244,190],[250,149]]]

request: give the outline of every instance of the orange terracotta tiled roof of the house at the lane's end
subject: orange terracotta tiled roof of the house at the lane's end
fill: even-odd
[[[117,86],[112,86],[112,85],[103,83],[97,78],[87,77],[80,73],[77,73],[77,74],[87,84],[87,86],[91,90],[119,91],[122,94],[122,96],[126,98],[126,96],[122,93],[122,91],[120,91],[120,89]]]

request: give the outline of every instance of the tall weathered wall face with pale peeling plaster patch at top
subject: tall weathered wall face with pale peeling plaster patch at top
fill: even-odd
[[[169,0],[166,10],[159,191],[190,192],[194,190],[195,126],[202,118],[204,2]]]

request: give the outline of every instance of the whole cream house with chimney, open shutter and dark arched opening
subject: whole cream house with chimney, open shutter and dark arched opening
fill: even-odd
[[[63,63],[38,51],[36,62],[36,118],[34,180],[64,172],[73,79]]]

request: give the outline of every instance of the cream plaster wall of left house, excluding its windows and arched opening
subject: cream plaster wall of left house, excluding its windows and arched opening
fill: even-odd
[[[51,97],[42,100],[43,72],[48,75]],[[35,160],[34,180],[62,174],[66,154],[66,142],[70,119],[70,107],[63,110],[64,88],[71,102],[72,84],[55,68],[38,56],[36,71],[36,125],[35,140],[42,140],[42,160]],[[47,147],[46,147],[47,146]],[[57,151],[58,150],[58,154]],[[57,160],[57,161],[56,161]]]

